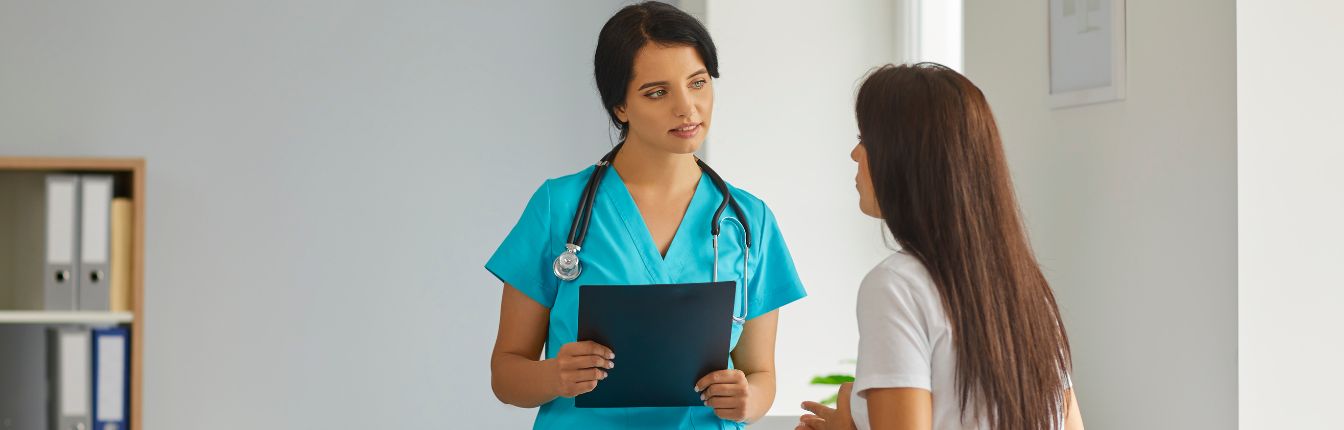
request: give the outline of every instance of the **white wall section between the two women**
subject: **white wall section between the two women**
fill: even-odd
[[[802,400],[835,392],[812,376],[853,371],[843,361],[859,345],[859,281],[891,253],[859,212],[849,160],[857,83],[891,58],[890,3],[707,3],[723,75],[707,161],[771,207],[808,289],[780,313],[771,414],[797,417]]]

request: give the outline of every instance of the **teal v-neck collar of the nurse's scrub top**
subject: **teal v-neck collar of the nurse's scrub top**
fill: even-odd
[[[653,282],[676,284],[673,275],[681,271],[680,269],[688,258],[694,257],[688,253],[695,243],[689,243],[688,241],[695,239],[696,232],[700,230],[708,235],[708,224],[702,219],[704,216],[700,216],[704,199],[710,194],[708,175],[703,171],[700,172],[695,194],[691,195],[691,203],[687,204],[685,214],[681,215],[681,223],[672,235],[672,243],[668,245],[667,255],[659,253],[659,246],[653,242],[653,234],[649,231],[649,226],[644,223],[644,215],[640,214],[640,207],[634,204],[634,196],[625,187],[621,173],[617,173],[614,168],[609,168],[607,175],[602,179],[601,188],[607,204],[612,204],[621,216],[625,230],[630,236],[630,245],[634,247],[633,251],[644,261],[644,266],[649,271],[649,278]]]

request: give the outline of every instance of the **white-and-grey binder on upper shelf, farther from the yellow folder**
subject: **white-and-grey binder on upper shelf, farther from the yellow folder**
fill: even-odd
[[[47,176],[47,258],[43,270],[43,302],[47,310],[78,309],[78,176]]]

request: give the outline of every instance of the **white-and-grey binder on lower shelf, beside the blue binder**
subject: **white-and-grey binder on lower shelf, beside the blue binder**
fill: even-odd
[[[54,328],[48,332],[47,382],[52,430],[90,430],[93,402],[91,347],[87,329]]]

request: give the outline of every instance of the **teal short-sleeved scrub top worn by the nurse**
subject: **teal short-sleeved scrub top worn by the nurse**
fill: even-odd
[[[504,238],[485,269],[551,309],[546,337],[546,357],[577,340],[581,285],[650,285],[708,282],[714,266],[710,223],[722,194],[710,176],[700,173],[685,216],[668,247],[659,254],[644,216],[616,169],[607,169],[593,204],[593,218],[579,258],[583,271],[574,281],[560,281],[551,271],[555,257],[564,251],[574,210],[594,167],[547,180],[527,202],[523,216]],[[806,296],[793,257],[784,243],[774,214],[761,199],[728,185],[742,206],[751,228],[751,271],[749,298],[754,318]],[[731,208],[722,215],[735,218]],[[737,281],[735,314],[742,314],[743,236],[732,220],[724,220],[719,235],[719,281]],[[742,327],[728,324],[735,348]],[[620,356],[620,352],[617,352]],[[728,361],[731,368],[731,359]],[[601,383],[599,383],[601,384]],[[687,384],[687,390],[692,390]],[[696,407],[575,408],[574,399],[556,398],[542,404],[534,429],[742,429],[741,423],[719,419],[714,410]]]

